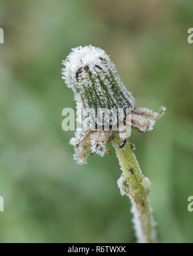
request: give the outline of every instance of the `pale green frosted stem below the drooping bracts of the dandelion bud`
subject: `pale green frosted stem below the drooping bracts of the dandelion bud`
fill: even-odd
[[[129,186],[129,189],[127,189],[124,184],[121,184],[120,189],[131,198],[136,237],[140,243],[156,243],[154,219],[148,198],[151,184],[142,174],[131,143],[127,142],[124,149],[120,148],[120,143],[119,136],[116,136],[113,140],[113,146],[122,167],[123,181],[127,182]]]

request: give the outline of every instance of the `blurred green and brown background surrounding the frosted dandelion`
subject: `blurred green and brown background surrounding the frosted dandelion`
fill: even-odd
[[[62,131],[75,109],[61,80],[72,47],[111,55],[138,107],[167,107],[131,141],[146,176],[161,242],[193,242],[193,5],[188,0],[0,0],[0,242],[134,242],[114,156],[78,166]]]

